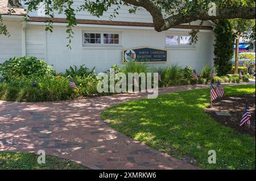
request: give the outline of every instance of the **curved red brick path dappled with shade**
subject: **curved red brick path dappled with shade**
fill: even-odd
[[[169,87],[159,93],[205,87],[209,86]],[[198,169],[132,140],[101,120],[106,107],[145,96],[122,94],[43,103],[0,100],[0,151],[45,150],[91,169]]]

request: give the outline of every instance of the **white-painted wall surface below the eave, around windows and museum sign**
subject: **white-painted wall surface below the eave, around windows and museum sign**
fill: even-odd
[[[89,28],[75,27],[75,35],[72,39],[72,49],[68,49],[65,27],[55,26],[53,33],[47,33],[47,40],[44,40],[44,26],[30,27],[30,36],[26,36],[28,55],[38,54],[42,58],[47,58],[48,64],[58,72],[64,72],[71,65],[86,65],[92,69],[96,66],[96,71],[106,71],[110,66],[117,64],[122,65],[122,49],[134,47],[155,47],[166,48],[168,50],[168,64],[178,63],[181,66],[192,66],[199,71],[205,64],[213,64],[213,41],[212,32],[200,32],[199,41],[192,48],[167,48],[165,47],[166,34],[182,33],[187,35],[188,32],[166,31],[155,32],[154,30],[135,30],[120,28]],[[108,31],[122,32],[121,46],[82,46],[83,31]],[[27,31],[28,32],[28,31]],[[38,35],[36,35],[38,34]],[[44,45],[46,43],[47,45]],[[47,47],[47,49],[44,49]],[[154,66],[166,66],[167,64],[152,64]]]

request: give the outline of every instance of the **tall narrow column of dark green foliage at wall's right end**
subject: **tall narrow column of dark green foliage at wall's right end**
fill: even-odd
[[[232,69],[232,56],[234,53],[233,29],[228,20],[217,20],[214,28],[216,37],[214,44],[214,67],[218,75],[226,75]]]

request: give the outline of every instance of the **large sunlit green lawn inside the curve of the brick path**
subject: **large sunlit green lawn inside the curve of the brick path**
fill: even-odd
[[[254,94],[255,85],[224,87],[226,95]],[[102,112],[102,119],[134,140],[203,169],[255,169],[255,137],[224,127],[204,113],[210,90],[189,90],[139,99]],[[208,163],[215,150],[217,163]]]

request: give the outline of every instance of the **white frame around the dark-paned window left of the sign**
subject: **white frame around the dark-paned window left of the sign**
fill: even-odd
[[[95,33],[101,34],[101,43],[85,43],[85,33]],[[118,35],[118,44],[105,44],[104,43],[104,34],[117,34]],[[112,31],[82,31],[82,47],[92,47],[92,46],[108,46],[108,47],[120,47],[122,45],[122,32],[112,32]]]

